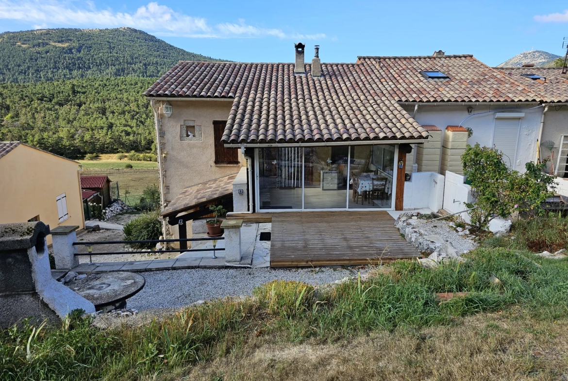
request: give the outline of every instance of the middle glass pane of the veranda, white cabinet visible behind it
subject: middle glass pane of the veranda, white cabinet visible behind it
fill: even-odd
[[[348,146],[304,148],[304,208],[346,208]]]

